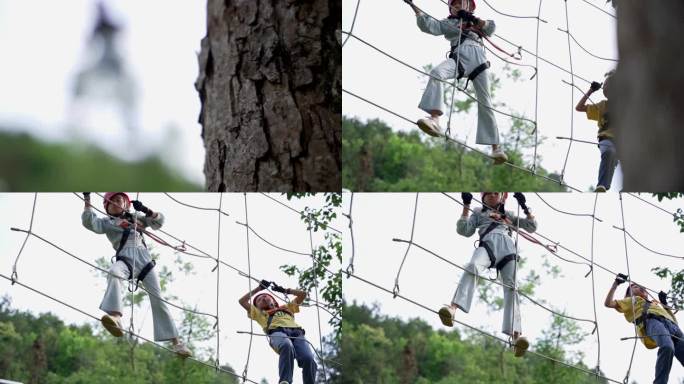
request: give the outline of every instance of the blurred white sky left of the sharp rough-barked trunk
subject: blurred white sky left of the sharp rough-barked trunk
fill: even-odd
[[[203,184],[204,145],[194,82],[196,53],[206,33],[205,2],[104,3],[123,27],[119,46],[138,90],[138,142],[144,148],[161,147],[171,167]],[[95,5],[95,0],[0,0],[1,127],[44,140],[69,137],[70,95],[94,25]],[[107,145],[112,141],[108,123],[103,119],[88,136]]]

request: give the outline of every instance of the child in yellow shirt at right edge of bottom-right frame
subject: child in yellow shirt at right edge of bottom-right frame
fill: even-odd
[[[653,383],[666,384],[672,368],[672,357],[676,357],[684,366],[684,335],[677,325],[677,319],[672,310],[667,306],[665,292],[661,291],[658,294],[660,302],[649,300],[648,293],[642,286],[631,283],[625,292],[625,298],[614,300],[615,289],[626,279],[627,276],[623,274],[615,278],[604,304],[624,314],[628,322],[636,323],[637,334],[646,348],[658,348],[656,375]]]

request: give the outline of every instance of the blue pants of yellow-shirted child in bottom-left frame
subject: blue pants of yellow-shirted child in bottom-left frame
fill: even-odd
[[[279,328],[278,331],[271,333],[268,339],[271,346],[280,355],[278,362],[278,370],[280,372],[279,383],[287,382],[292,384],[295,359],[297,359],[299,367],[302,368],[304,384],[316,383],[318,365],[301,329]]]

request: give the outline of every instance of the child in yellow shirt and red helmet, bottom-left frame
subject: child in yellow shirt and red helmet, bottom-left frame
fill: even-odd
[[[276,299],[268,293],[256,295],[269,287],[274,292],[295,295],[295,299],[285,305],[278,305]],[[249,303],[250,297],[253,297],[251,305]],[[299,367],[302,368],[304,384],[316,382],[318,365],[309,343],[304,337],[306,332],[294,320],[294,314],[299,312],[299,305],[305,299],[306,292],[304,291],[286,289],[274,282],[262,280],[258,287],[247,292],[239,300],[240,305],[247,311],[247,316],[263,328],[268,335],[271,348],[280,355],[278,361],[279,384],[292,384],[295,359]]]

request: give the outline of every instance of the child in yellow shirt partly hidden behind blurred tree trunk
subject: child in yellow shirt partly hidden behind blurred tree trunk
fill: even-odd
[[[582,96],[582,99],[577,103],[575,110],[578,112],[585,112],[587,119],[594,120],[598,123],[598,141],[599,150],[601,151],[601,164],[599,165],[599,179],[596,184],[596,192],[605,192],[610,189],[610,184],[613,180],[613,173],[617,167],[618,158],[617,150],[615,148],[614,134],[610,126],[610,118],[608,114],[608,94],[609,94],[609,80],[612,73],[606,75],[603,81],[603,95],[606,100],[601,100],[596,104],[587,105],[587,99],[594,92],[601,89],[601,83],[592,82],[591,87],[587,93]]]

